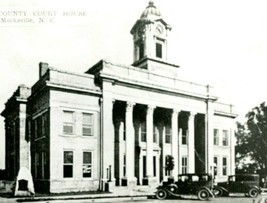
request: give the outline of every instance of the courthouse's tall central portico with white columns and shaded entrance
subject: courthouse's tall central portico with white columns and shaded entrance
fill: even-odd
[[[208,163],[209,146],[205,144],[208,134],[206,95],[196,97],[188,92],[187,96],[178,98],[176,95],[180,93],[175,91],[158,91],[158,88],[148,88],[137,81],[132,84],[132,75],[143,76],[143,70],[117,66],[130,73],[121,82],[119,78],[115,79],[116,71],[111,71],[113,64],[103,61],[99,65],[100,77],[105,75],[103,95],[107,92],[110,96],[109,105],[102,107],[106,108],[103,112],[108,116],[103,114],[102,120],[112,117],[112,125],[108,120],[109,126],[105,127],[103,122],[102,128],[113,128],[103,130],[102,135],[107,146],[102,149],[103,154],[108,156],[108,163],[103,164],[102,169],[104,181],[109,177],[107,169],[110,165],[109,179],[114,185],[125,186],[156,185],[169,175],[177,178],[183,172],[194,173],[196,168],[198,172],[208,171],[207,165],[212,163]],[[106,71],[110,75],[105,74]],[[203,86],[203,89],[207,90],[207,87]],[[104,141],[105,138],[109,141]],[[167,155],[174,158],[175,167],[171,174],[165,170]]]

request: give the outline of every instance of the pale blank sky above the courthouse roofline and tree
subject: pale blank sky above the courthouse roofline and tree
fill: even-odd
[[[18,85],[37,81],[41,61],[77,73],[101,59],[131,65],[130,30],[148,1],[1,0],[0,111]],[[154,4],[172,26],[168,60],[180,66],[179,79],[212,85],[220,101],[235,106],[237,121],[266,100],[267,1],[154,0]],[[10,22],[14,20],[25,22]],[[4,135],[0,118],[0,168]]]

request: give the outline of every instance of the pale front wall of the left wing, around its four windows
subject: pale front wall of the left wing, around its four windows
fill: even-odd
[[[64,111],[74,115],[73,134],[63,133]],[[93,136],[82,135],[82,113],[93,114]],[[50,192],[89,191],[99,188],[100,109],[97,96],[50,92]],[[63,177],[63,153],[73,152],[73,177]],[[82,177],[83,152],[92,152],[92,177]]]

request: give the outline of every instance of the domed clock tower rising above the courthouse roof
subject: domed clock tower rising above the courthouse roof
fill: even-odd
[[[171,30],[153,1],[136,21],[131,34],[134,43],[133,66],[148,69],[147,60],[167,62],[168,32]]]

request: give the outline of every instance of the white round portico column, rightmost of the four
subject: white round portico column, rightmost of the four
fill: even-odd
[[[195,172],[195,112],[188,117],[188,173]]]

